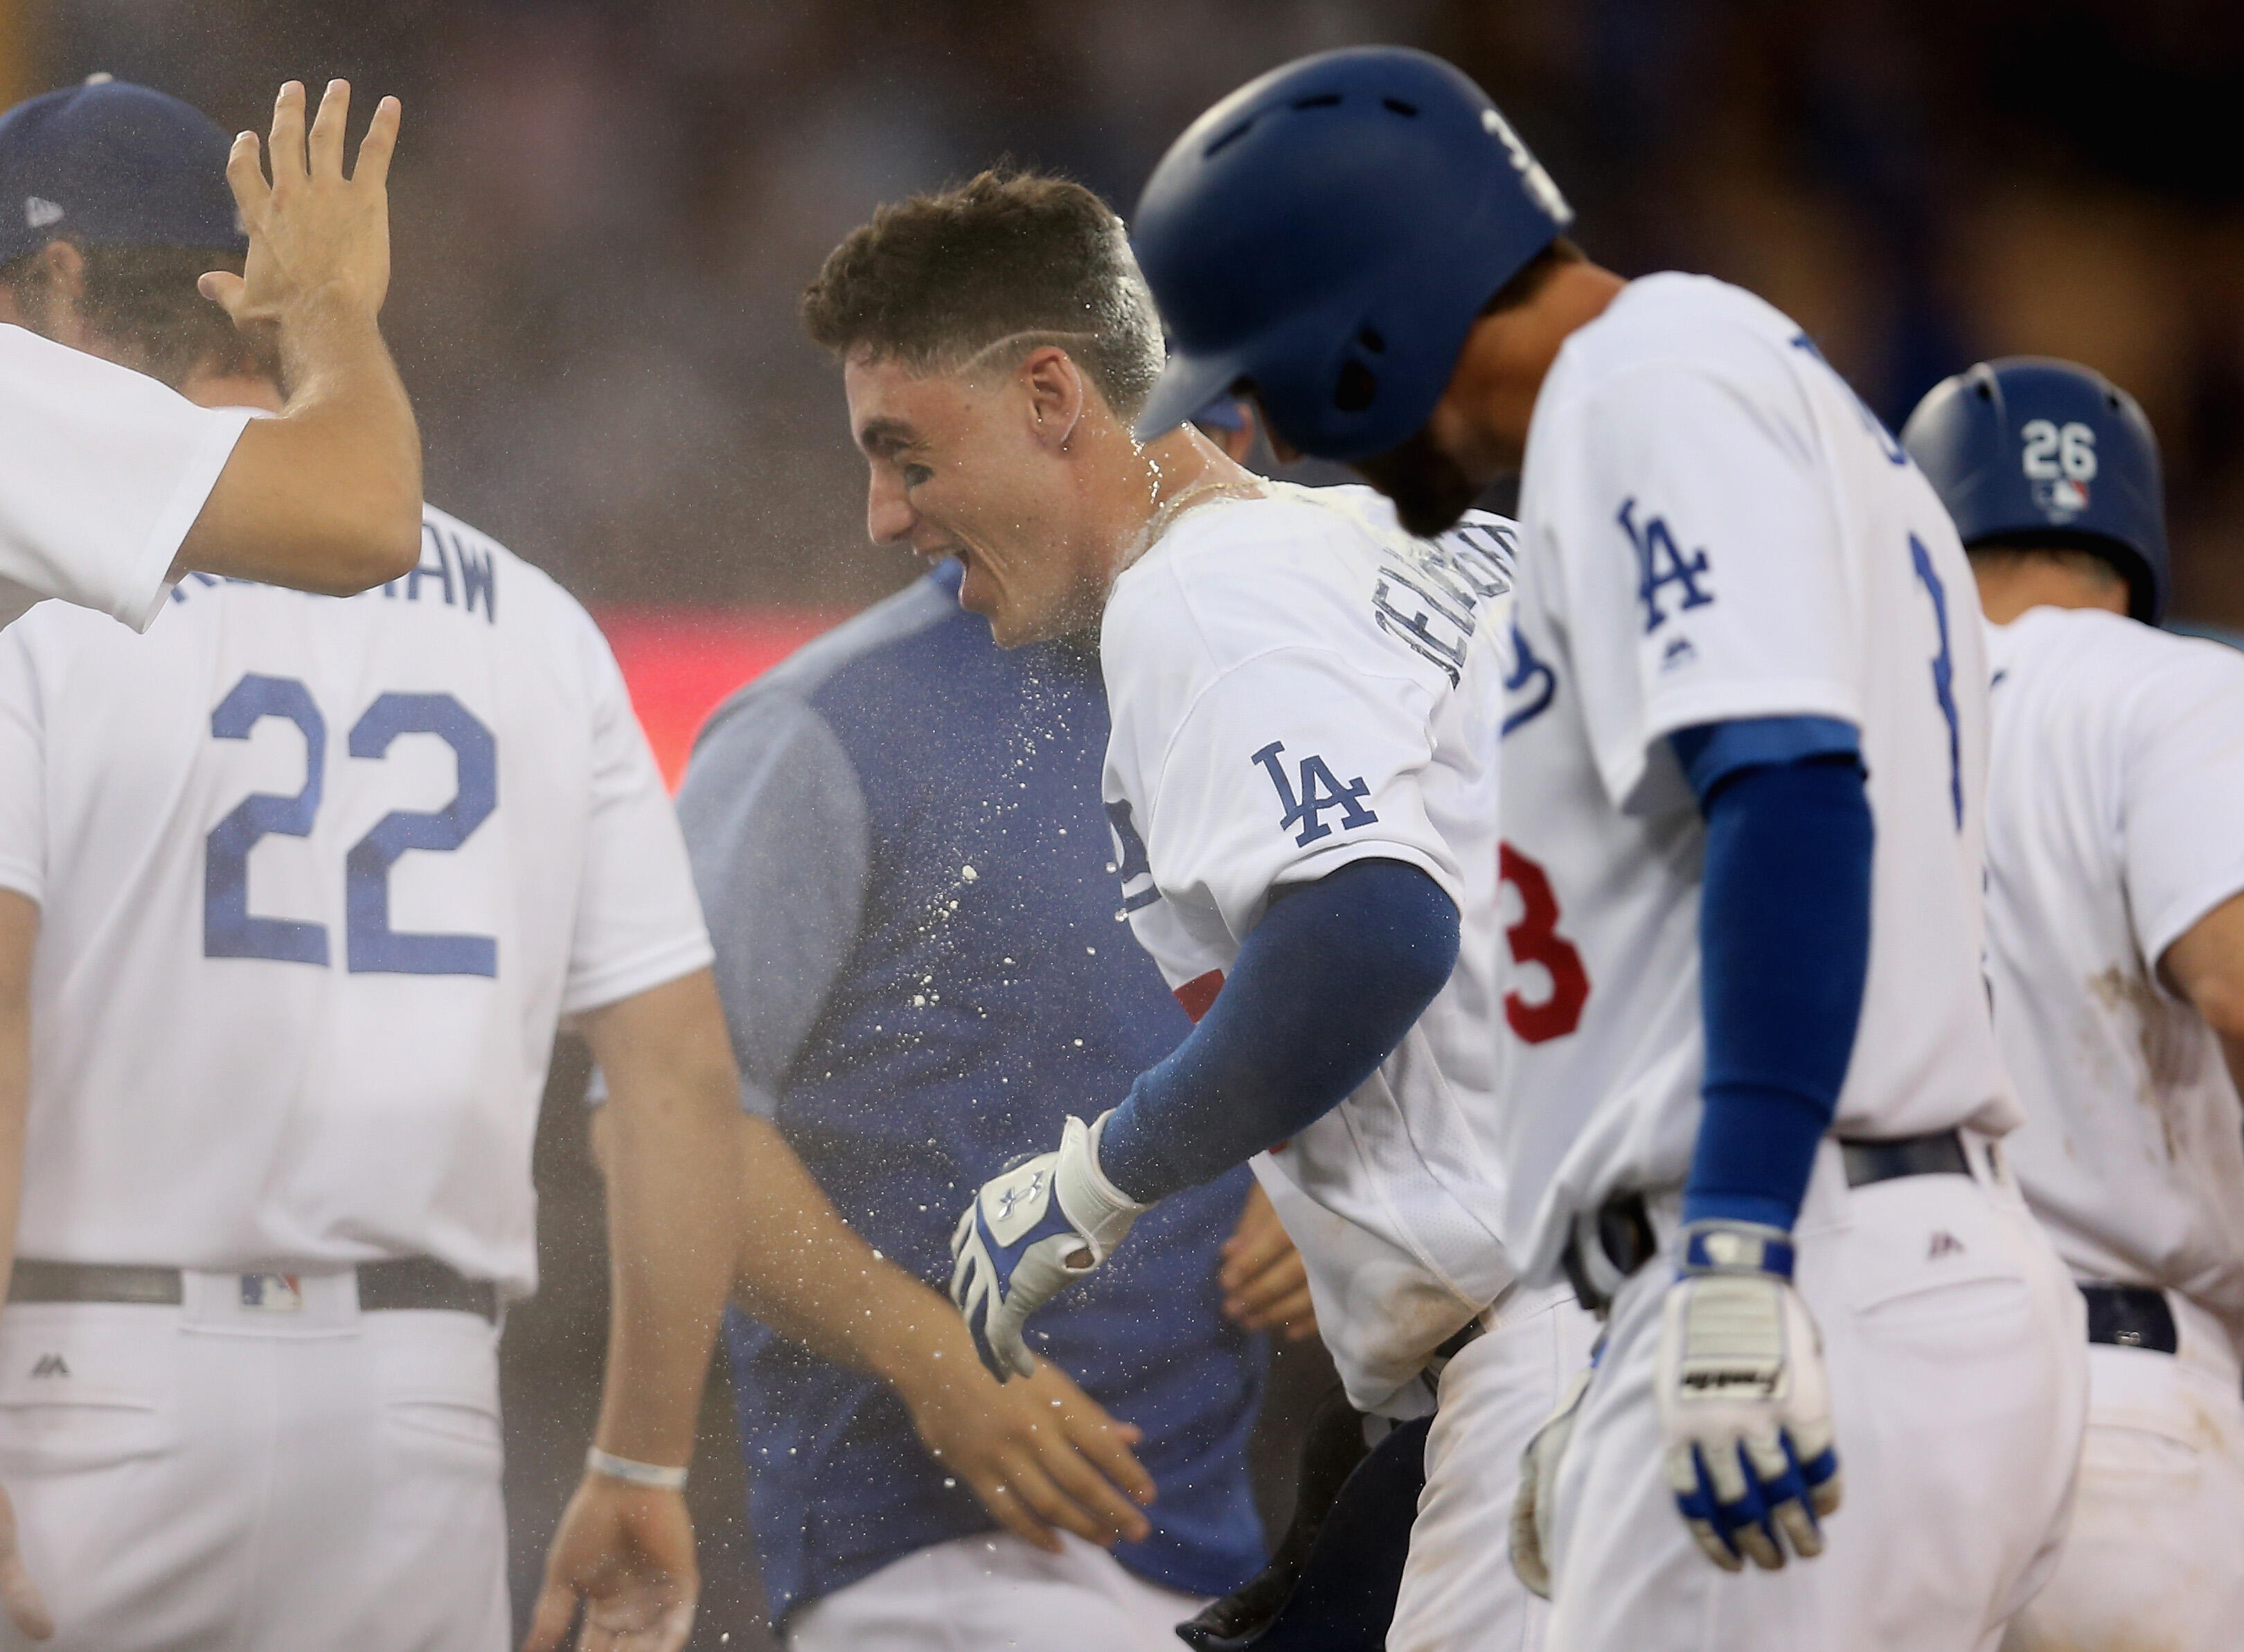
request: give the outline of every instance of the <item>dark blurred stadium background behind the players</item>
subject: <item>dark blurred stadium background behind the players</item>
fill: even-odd
[[[2179,617],[2244,626],[2233,0],[0,0],[0,94],[108,70],[240,128],[285,76],[399,92],[386,325],[429,494],[601,615],[675,768],[725,689],[911,577],[864,545],[839,386],[794,325],[826,249],[999,157],[1126,209],[1207,101],[1358,40],[1474,72],[1591,256],[1755,287],[1889,422],[1981,355],[2103,368],[2165,442]],[[545,1293],[507,1333],[518,1591],[599,1371],[581,1084],[563,1046]],[[723,1398],[696,1645],[752,1648]]]

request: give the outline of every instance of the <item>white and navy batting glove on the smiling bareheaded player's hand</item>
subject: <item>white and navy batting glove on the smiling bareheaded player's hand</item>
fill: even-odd
[[[1021,1322],[1106,1261],[1144,1210],[1100,1169],[1109,1118],[1070,1118],[1057,1154],[1019,1158],[985,1181],[951,1232],[951,1302],[999,1383],[1037,1374]]]

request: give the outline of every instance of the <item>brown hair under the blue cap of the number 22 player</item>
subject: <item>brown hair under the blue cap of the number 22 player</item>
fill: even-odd
[[[231,247],[103,245],[79,245],[79,254],[85,258],[79,312],[148,377],[175,391],[197,370],[278,377],[274,348],[240,332],[195,290],[206,269],[240,274],[242,254]],[[52,305],[47,260],[27,251],[0,267],[0,283],[16,294],[34,330],[43,328]]]

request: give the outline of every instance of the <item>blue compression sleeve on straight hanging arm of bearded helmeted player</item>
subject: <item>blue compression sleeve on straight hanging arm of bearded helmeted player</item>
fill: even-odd
[[[1705,813],[1705,1111],[1683,1219],[1791,1228],[1869,972],[1863,759],[1829,718],[1717,723],[1672,745]]]

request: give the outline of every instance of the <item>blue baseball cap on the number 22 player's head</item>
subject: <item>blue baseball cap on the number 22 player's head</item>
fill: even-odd
[[[209,114],[96,74],[0,114],[0,263],[58,236],[103,247],[247,251]]]

